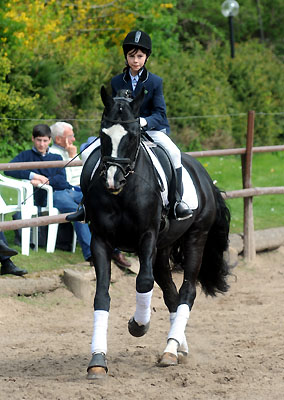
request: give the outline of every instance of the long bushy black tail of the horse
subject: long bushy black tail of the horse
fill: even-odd
[[[214,185],[216,198],[216,219],[205,244],[198,280],[206,295],[216,296],[227,292],[229,266],[224,259],[224,252],[229,245],[230,211],[220,190]]]

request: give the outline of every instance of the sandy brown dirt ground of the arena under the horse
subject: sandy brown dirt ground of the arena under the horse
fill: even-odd
[[[86,380],[92,299],[65,288],[25,298],[1,297],[0,399],[280,400],[284,398],[284,247],[240,262],[225,296],[198,291],[190,315],[186,364],[158,368],[168,313],[154,288],[150,330],[128,334],[135,276],[111,286],[107,379]],[[181,275],[175,274],[177,282]]]

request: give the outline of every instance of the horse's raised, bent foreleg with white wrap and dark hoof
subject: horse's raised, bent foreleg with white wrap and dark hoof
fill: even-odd
[[[132,336],[143,336],[148,331],[151,318],[151,299],[154,286],[152,271],[155,256],[155,236],[148,232],[140,241],[140,269],[136,278],[136,310],[128,322]]]

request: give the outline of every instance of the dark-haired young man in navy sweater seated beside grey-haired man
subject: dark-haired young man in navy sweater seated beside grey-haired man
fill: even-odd
[[[48,125],[39,124],[33,128],[33,148],[19,153],[11,162],[29,161],[59,161],[62,157],[50,153],[51,131]],[[6,171],[6,175],[17,179],[29,179],[33,186],[44,183],[53,187],[53,204],[61,213],[75,212],[82,200],[82,193],[78,186],[70,185],[66,180],[64,168],[33,168],[19,171]],[[46,192],[42,189],[35,190],[35,204],[46,205]],[[91,233],[87,224],[74,222],[74,228],[81,245],[86,261],[92,262],[90,242]]]

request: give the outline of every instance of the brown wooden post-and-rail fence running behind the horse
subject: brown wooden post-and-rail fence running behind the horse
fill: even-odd
[[[223,149],[223,150],[208,150],[188,152],[187,154],[195,157],[215,157],[240,155],[242,163],[242,178],[243,189],[233,190],[223,193],[225,199],[244,199],[244,257],[247,260],[253,260],[255,257],[254,243],[254,222],[253,222],[253,197],[261,195],[284,194],[284,186],[278,187],[252,187],[251,171],[252,171],[252,156],[253,153],[265,153],[284,151],[284,146],[262,146],[253,147],[254,136],[254,111],[248,112],[247,123],[247,143],[245,148]],[[6,163],[0,164],[0,171],[24,170],[32,168],[64,168],[82,165],[81,160],[73,160],[66,165],[66,161],[40,161],[40,162],[25,162],[25,163]],[[38,217],[27,220],[6,221],[0,222],[0,231],[14,230],[26,227],[42,226],[55,223],[66,222],[65,217],[68,214],[60,214],[52,217]]]

